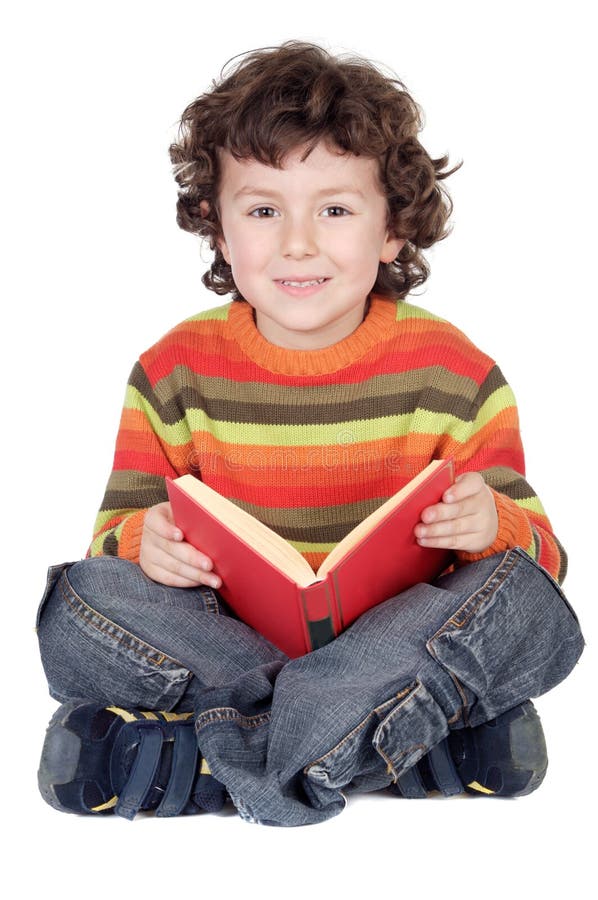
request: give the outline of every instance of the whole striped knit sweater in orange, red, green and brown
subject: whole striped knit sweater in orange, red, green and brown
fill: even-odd
[[[566,557],[534,491],[513,393],[494,362],[443,319],[374,296],[359,328],[288,350],[233,301],[170,331],[137,362],[89,553],[138,561],[164,478],[192,473],[290,541],[317,569],[334,545],[432,459],[479,471],[496,541],[562,579]]]

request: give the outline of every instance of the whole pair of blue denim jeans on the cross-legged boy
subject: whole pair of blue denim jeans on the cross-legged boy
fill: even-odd
[[[50,569],[38,636],[54,698],[192,710],[241,816],[276,825],[389,786],[449,729],[550,690],[583,649],[559,586],[519,549],[417,585],[299,659],[211,589],[112,557]]]

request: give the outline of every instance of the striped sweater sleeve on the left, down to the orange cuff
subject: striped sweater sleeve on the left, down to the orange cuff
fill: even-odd
[[[150,506],[168,500],[164,479],[180,474],[177,457],[188,443],[184,416],[162,402],[142,363],[136,363],[127,384],[112,472],[88,556],[120,556],[139,562],[145,513]]]

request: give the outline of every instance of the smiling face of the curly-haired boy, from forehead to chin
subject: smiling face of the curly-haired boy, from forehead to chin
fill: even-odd
[[[222,153],[218,246],[262,335],[318,349],[358,327],[379,261],[404,241],[387,231],[376,160],[320,143],[301,162],[303,149],[282,169]]]

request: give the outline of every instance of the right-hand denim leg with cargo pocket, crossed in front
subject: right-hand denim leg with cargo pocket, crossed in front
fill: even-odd
[[[550,690],[582,649],[556,582],[513,550],[370,610],[289,661],[271,697],[204,692],[198,740],[246,819],[318,822],[343,809],[344,791],[395,781],[449,728]]]

